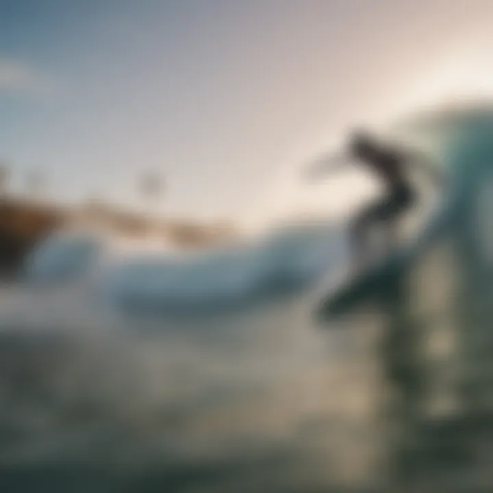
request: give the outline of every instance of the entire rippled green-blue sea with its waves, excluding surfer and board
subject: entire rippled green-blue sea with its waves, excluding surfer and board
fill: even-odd
[[[493,113],[439,116],[399,138],[441,129],[443,214],[340,320],[314,317],[338,225],[171,260],[89,242],[3,286],[1,490],[488,491]]]

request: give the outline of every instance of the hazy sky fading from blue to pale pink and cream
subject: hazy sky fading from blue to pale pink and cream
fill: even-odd
[[[142,207],[156,173],[162,214],[259,215],[349,128],[493,92],[491,18],[490,0],[0,0],[0,159],[60,201]]]

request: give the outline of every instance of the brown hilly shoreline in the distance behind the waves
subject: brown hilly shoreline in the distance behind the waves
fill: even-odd
[[[227,221],[155,219],[106,204],[64,207],[48,201],[0,199],[0,273],[16,273],[29,251],[58,229],[94,227],[133,239],[162,240],[177,249],[210,247],[238,238]]]

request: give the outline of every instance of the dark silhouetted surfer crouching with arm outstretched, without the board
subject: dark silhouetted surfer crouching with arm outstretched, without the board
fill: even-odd
[[[370,168],[383,181],[384,196],[366,205],[355,216],[350,227],[356,268],[366,264],[368,235],[372,227],[378,223],[383,226],[388,247],[391,247],[394,243],[396,223],[416,203],[416,190],[407,173],[407,165],[411,157],[412,155],[403,151],[384,147],[365,131],[357,131],[349,140],[348,151],[336,162],[333,159],[328,163],[322,161],[309,170],[309,175],[314,176],[321,171],[325,172],[327,164],[333,169],[355,160]]]

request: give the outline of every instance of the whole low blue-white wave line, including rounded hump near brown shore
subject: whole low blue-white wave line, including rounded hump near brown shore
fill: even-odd
[[[340,228],[316,223],[199,253],[121,255],[89,233],[59,233],[29,257],[25,277],[63,282],[96,272],[105,296],[125,304],[232,303],[307,286],[341,260],[343,242]]]

